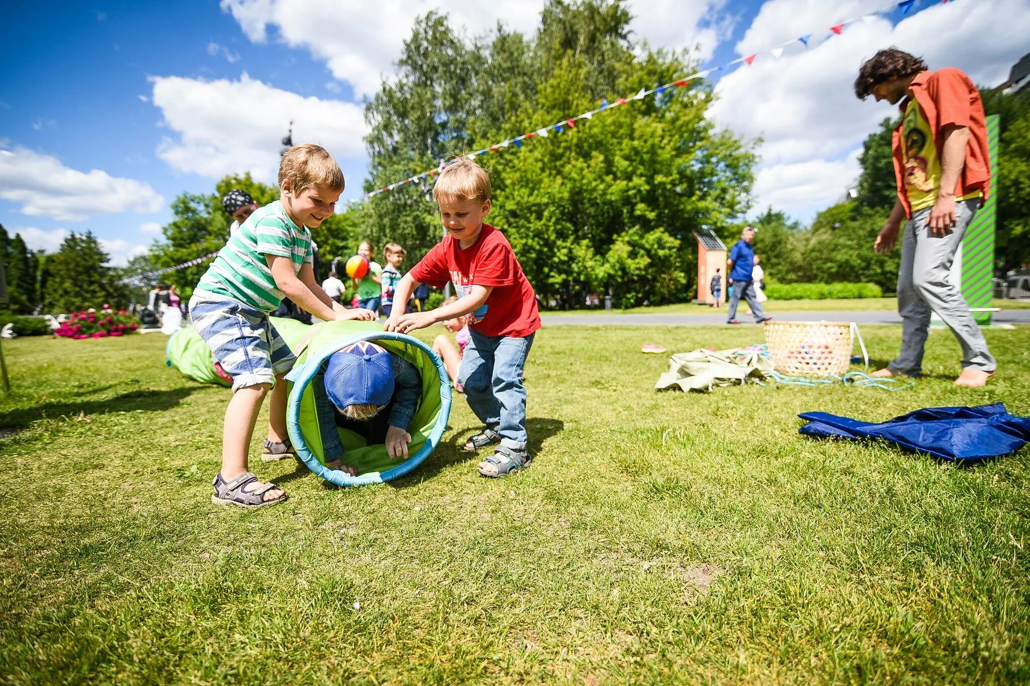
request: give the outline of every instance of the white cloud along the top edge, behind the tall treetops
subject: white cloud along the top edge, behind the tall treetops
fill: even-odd
[[[729,28],[710,17],[726,0],[630,0],[638,37],[655,46],[693,47],[701,44],[708,58]],[[416,16],[431,9],[449,14],[452,27],[464,27],[470,36],[491,31],[503,22],[509,30],[533,35],[540,25],[544,0],[509,0],[502,3],[441,0],[381,0],[347,3],[336,0],[221,0],[243,33],[254,43],[276,39],[303,47],[323,61],[337,79],[349,82],[358,96],[371,96],[383,77],[393,73],[404,40]]]

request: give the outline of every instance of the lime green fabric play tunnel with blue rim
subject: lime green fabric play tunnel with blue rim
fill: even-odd
[[[307,326],[293,320],[272,318],[272,325],[297,355],[297,364],[287,374],[289,399],[286,426],[297,455],[312,472],[338,485],[381,483],[407,474],[428,457],[440,442],[450,416],[451,387],[443,361],[421,340],[402,333],[383,331],[379,322],[323,322]],[[318,413],[311,383],[324,370],[329,358],[340,349],[371,340],[411,362],[422,376],[422,397],[408,433],[408,460],[398,463],[381,443],[366,444],[363,437],[336,428],[346,448],[344,462],[357,470],[350,476],[324,465]],[[214,369],[207,344],[193,327],[175,333],[168,341],[168,364],[202,383],[229,386]]]

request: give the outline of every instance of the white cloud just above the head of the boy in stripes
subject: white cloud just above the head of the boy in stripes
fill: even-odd
[[[218,178],[250,172],[274,181],[280,139],[294,122],[294,141],[317,143],[338,158],[365,156],[368,131],[360,105],[304,98],[243,74],[238,81],[151,77],[153,104],[166,137],[158,156],[181,172]]]

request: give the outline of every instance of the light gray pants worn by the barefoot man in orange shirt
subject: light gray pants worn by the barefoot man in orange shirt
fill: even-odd
[[[987,350],[987,340],[969,314],[959,284],[952,283],[955,251],[981,198],[955,204],[955,227],[947,236],[933,236],[926,220],[930,210],[920,210],[905,223],[898,269],[898,314],[901,315],[901,352],[887,365],[894,373],[918,376],[923,371],[923,347],[935,313],[962,347],[962,366],[994,371],[997,363]]]

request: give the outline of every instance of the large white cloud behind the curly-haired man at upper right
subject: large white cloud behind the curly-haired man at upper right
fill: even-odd
[[[880,16],[848,25],[840,36],[829,27],[871,9],[859,0],[769,0],[737,42],[737,53],[757,53],[716,85],[711,116],[746,138],[762,137],[759,202],[790,211],[826,204],[843,194],[857,167],[839,160],[897,109],[855,98],[862,62],[891,45],[922,56],[931,69],[958,67],[977,83],[1005,78],[1026,50],[1030,0],[980,0],[930,6],[892,26]],[[1004,22],[998,17],[1004,16]],[[810,46],[794,42],[777,60],[769,49],[812,33]],[[813,184],[826,186],[819,192]],[[760,206],[764,209],[764,205]]]

